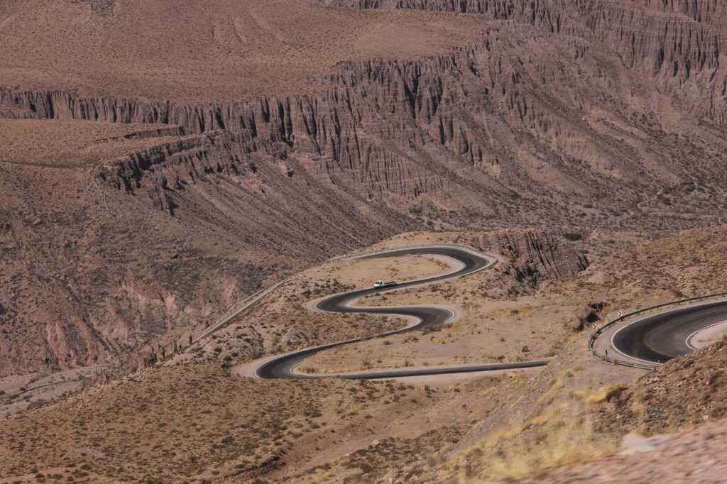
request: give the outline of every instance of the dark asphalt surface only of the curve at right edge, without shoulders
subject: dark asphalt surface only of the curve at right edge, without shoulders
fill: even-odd
[[[611,336],[614,350],[651,363],[666,363],[693,352],[687,342],[695,331],[727,320],[727,301],[692,304],[628,323]]]

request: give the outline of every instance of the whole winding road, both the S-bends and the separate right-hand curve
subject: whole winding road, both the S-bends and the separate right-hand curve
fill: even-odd
[[[494,257],[481,254],[472,249],[459,246],[425,246],[408,249],[392,249],[373,254],[364,254],[344,260],[375,259],[383,257],[403,257],[406,255],[433,255],[448,257],[457,262],[458,267],[449,273],[430,278],[399,283],[385,289],[357,289],[341,294],[334,294],[313,304],[313,308],[325,312],[366,312],[379,315],[398,315],[411,320],[409,326],[387,331],[382,334],[345,341],[322,344],[276,355],[254,363],[253,375],[262,379],[303,379],[339,377],[347,379],[383,379],[404,376],[462,374],[480,371],[506,371],[525,368],[537,368],[547,365],[549,360],[531,360],[513,363],[487,363],[459,366],[437,366],[423,368],[393,368],[382,370],[358,371],[338,374],[302,374],[296,371],[300,364],[312,355],[345,344],[363,342],[369,339],[419,331],[423,328],[441,326],[454,318],[455,313],[448,307],[438,306],[406,306],[406,307],[359,307],[353,303],[362,297],[385,292],[399,291],[414,286],[425,286],[433,283],[462,278],[481,270],[489,269],[497,264]],[[630,316],[635,317],[636,314]],[[626,318],[626,317],[624,317]],[[624,324],[599,330],[594,338],[595,354],[616,363],[655,368],[661,363],[686,355],[699,347],[709,344],[715,335],[727,332],[727,300],[699,301],[686,306],[664,308],[655,314],[643,315]],[[611,355],[608,351],[611,351]]]

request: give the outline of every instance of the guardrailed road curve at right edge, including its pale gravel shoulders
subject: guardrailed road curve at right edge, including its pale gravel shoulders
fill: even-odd
[[[664,307],[651,315],[635,315],[598,336],[595,349],[626,363],[657,366],[714,342],[727,333],[727,299]]]

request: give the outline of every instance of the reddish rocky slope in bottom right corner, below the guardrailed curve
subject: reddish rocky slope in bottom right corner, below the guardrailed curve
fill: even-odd
[[[620,452],[525,482],[721,482],[726,360],[722,339],[632,384],[608,387],[593,428],[599,440],[620,439]]]

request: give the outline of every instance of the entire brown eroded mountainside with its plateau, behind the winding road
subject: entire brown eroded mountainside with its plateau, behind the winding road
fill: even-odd
[[[310,3],[0,2],[0,374],[185,336],[411,227],[603,253],[726,221],[721,4]],[[532,283],[584,266],[543,237],[481,243]]]

